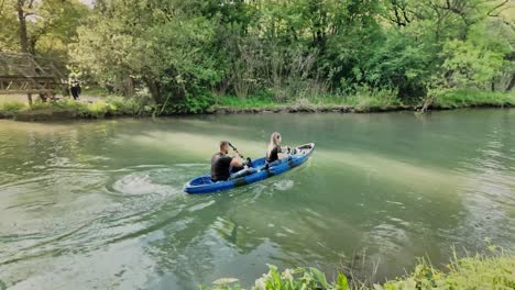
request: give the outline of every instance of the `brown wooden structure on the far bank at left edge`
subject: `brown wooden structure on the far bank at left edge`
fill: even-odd
[[[67,78],[54,62],[31,54],[0,53],[0,94],[37,93],[43,101],[67,92]]]

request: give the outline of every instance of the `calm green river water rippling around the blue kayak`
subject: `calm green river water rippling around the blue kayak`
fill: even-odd
[[[302,167],[188,196],[220,140],[280,131]],[[0,121],[0,289],[249,287],[266,264],[376,281],[515,246],[515,110]]]

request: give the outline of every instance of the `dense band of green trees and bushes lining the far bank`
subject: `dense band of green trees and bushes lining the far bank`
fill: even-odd
[[[204,105],[213,94],[281,102],[362,88],[409,102],[441,90],[515,86],[515,7],[507,0],[0,5],[0,51],[53,54],[99,86],[146,91],[156,103]],[[28,15],[25,44],[13,33],[20,5]]]

